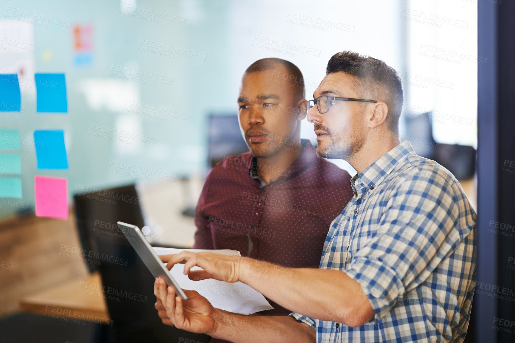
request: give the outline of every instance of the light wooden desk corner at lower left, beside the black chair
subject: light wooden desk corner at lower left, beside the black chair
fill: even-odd
[[[89,282],[89,283],[88,283]],[[99,273],[84,275],[20,299],[23,312],[106,324],[110,322]],[[97,286],[98,285],[98,286]],[[99,287],[98,289],[95,289]]]

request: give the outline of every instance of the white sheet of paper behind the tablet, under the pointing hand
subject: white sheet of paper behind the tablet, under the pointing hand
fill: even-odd
[[[172,248],[153,248],[158,255],[177,254],[183,250],[193,252],[217,252],[225,255],[237,255],[236,250],[199,250],[199,249],[172,249]],[[193,267],[192,270],[200,270]],[[184,264],[176,264],[170,270],[171,275],[184,290],[194,290],[207,298],[211,304],[218,309],[240,314],[252,314],[259,311],[271,310],[272,306],[265,297],[254,290],[251,286],[243,282],[229,283],[215,279],[193,281],[184,275]]]

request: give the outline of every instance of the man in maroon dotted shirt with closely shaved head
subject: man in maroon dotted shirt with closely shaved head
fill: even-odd
[[[353,191],[346,171],[300,139],[307,112],[299,68],[276,58],[252,63],[242,78],[238,106],[250,152],[225,158],[205,179],[193,247],[318,268],[329,225]],[[270,304],[274,309],[260,314],[291,313]]]

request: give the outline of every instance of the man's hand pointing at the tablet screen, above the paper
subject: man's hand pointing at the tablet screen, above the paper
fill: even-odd
[[[215,252],[181,251],[179,254],[160,255],[161,261],[168,262],[166,268],[170,270],[177,263],[184,263],[184,274],[191,280],[216,279],[220,281],[239,281],[239,266],[242,257],[222,255]],[[204,270],[192,270],[199,266]]]

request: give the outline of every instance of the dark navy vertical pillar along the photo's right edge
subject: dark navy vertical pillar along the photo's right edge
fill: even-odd
[[[509,266],[515,256],[515,232],[509,229],[515,224],[515,174],[509,170],[515,168],[506,168],[515,161],[515,2],[494,1],[478,0],[477,13],[477,55],[483,63],[477,69],[476,274],[490,292],[508,300],[476,293],[473,306],[477,342],[512,342],[515,335],[496,330],[501,326],[494,321],[515,320],[515,271]],[[505,294],[496,292],[503,289]]]

